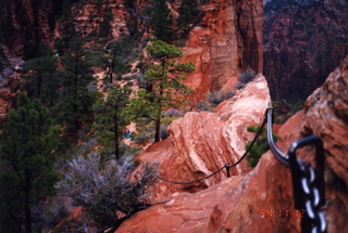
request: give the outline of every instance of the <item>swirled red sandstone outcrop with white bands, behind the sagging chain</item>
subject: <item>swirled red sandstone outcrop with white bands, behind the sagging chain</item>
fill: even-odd
[[[265,78],[259,75],[237,93],[221,103],[214,113],[189,112],[169,126],[171,137],[141,153],[141,160],[159,161],[161,177],[177,182],[187,182],[206,177],[225,164],[236,163],[245,153],[245,144],[253,138],[247,126],[262,122],[270,104]],[[163,148],[163,150],[161,150]],[[250,168],[244,160],[231,168],[231,176],[241,176]],[[194,184],[176,185],[160,182],[156,197],[182,191],[197,192],[226,178],[226,170]]]

